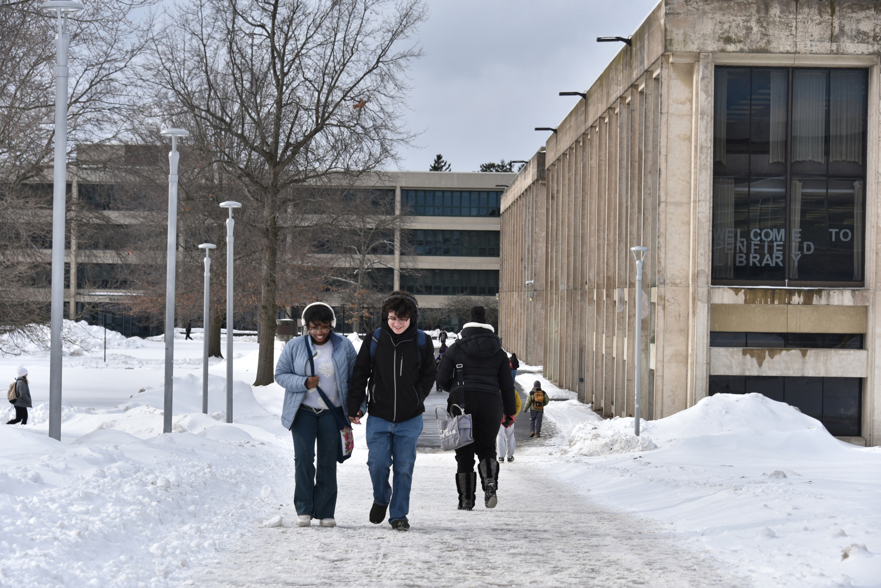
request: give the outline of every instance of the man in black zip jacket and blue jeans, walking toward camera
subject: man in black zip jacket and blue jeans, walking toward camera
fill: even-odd
[[[367,469],[374,485],[370,522],[379,525],[388,510],[391,528],[407,531],[423,402],[432,391],[437,367],[432,338],[416,327],[418,305],[412,294],[389,294],[381,316],[381,326],[361,345],[355,361],[349,415],[352,423],[360,424],[366,398]],[[394,474],[391,486],[389,468]]]

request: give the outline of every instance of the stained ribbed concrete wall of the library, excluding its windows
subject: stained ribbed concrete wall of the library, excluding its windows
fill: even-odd
[[[649,405],[644,402],[643,415],[670,415],[707,394],[714,313],[720,320],[728,312],[746,321],[751,312],[765,312],[714,305],[773,306],[780,304],[774,297],[788,296],[786,305],[796,306],[811,298],[813,305],[859,308],[767,312],[787,329],[812,332],[864,323],[863,431],[870,445],[881,441],[876,439],[881,401],[874,384],[881,378],[877,247],[866,247],[864,290],[756,295],[749,290],[762,289],[714,287],[710,281],[713,80],[719,64],[870,71],[868,177],[873,180],[867,187],[866,242],[877,242],[879,4],[665,0],[655,7],[633,33],[633,46],[622,46],[587,90],[588,99],[577,103],[545,144],[546,377],[559,386],[583,389],[581,396],[604,415],[632,414],[637,312],[628,249],[644,245],[650,249],[644,287],[651,297],[648,308],[640,309],[640,349],[649,357],[643,364],[648,378],[643,378],[642,394]],[[507,235],[516,231],[505,230],[507,212],[502,214],[504,252]],[[503,261],[503,283],[505,274]]]

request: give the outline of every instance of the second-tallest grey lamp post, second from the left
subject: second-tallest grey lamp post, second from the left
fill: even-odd
[[[166,252],[166,373],[162,432],[171,432],[172,398],[174,396],[174,274],[177,271],[177,138],[189,136],[186,129],[162,129],[159,135],[171,137],[168,152],[168,249]]]

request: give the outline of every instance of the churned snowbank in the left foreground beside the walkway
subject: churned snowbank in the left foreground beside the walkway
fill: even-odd
[[[189,433],[95,430],[67,445],[0,427],[0,446],[0,584],[14,586],[177,584],[278,510],[272,487],[292,467],[253,438]]]

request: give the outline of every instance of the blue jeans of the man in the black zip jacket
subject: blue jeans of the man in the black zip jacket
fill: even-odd
[[[422,415],[403,423],[367,417],[367,469],[374,482],[374,503],[389,505],[389,523],[396,518],[407,520],[410,512],[416,443],[421,432]],[[394,486],[389,486],[389,467],[395,474]]]

